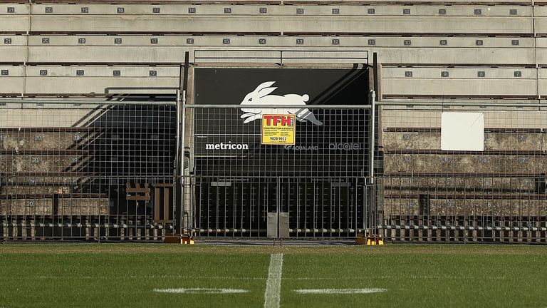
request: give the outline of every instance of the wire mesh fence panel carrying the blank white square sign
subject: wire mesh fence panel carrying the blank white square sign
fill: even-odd
[[[546,241],[547,108],[411,102],[381,108],[378,228],[387,239]]]

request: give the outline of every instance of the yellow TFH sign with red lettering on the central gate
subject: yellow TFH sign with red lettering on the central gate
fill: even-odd
[[[262,115],[262,144],[293,145],[295,135],[294,115]]]

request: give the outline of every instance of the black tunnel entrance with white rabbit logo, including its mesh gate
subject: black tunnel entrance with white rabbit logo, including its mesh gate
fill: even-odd
[[[275,238],[362,232],[368,74],[367,66],[195,68],[182,116],[187,230]]]

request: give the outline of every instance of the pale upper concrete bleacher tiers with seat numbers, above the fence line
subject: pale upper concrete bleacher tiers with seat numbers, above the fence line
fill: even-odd
[[[224,2],[4,1],[0,94],[172,92],[151,88],[177,86],[184,51],[328,50],[377,52],[382,98],[546,95],[547,9],[530,1]],[[226,59],[238,49],[261,59]]]

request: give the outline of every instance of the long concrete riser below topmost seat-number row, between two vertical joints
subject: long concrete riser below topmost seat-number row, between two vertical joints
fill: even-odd
[[[531,17],[467,16],[31,16],[36,32],[300,32],[300,33],[428,33],[531,34]],[[541,23],[539,23],[541,24]],[[538,25],[538,23],[536,23]],[[119,30],[118,30],[119,31]]]

